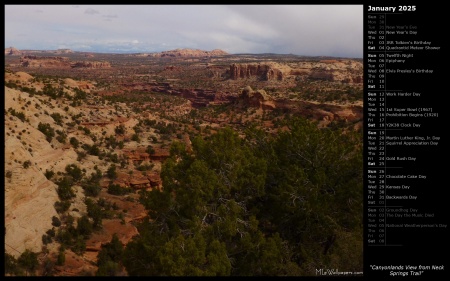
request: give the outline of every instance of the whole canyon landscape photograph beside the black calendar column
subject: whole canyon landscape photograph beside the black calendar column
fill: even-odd
[[[5,276],[363,271],[362,5],[5,5]]]

